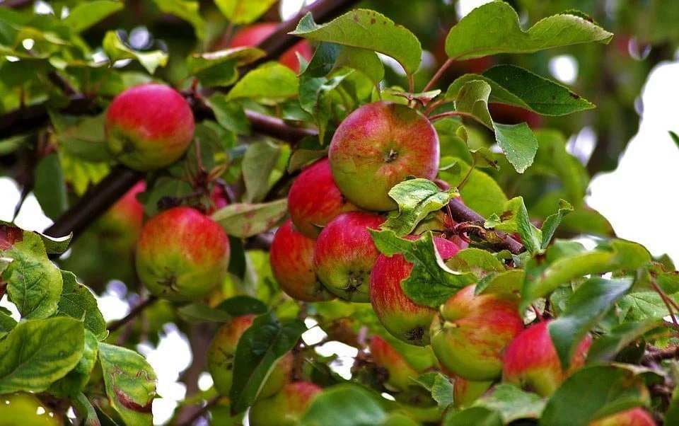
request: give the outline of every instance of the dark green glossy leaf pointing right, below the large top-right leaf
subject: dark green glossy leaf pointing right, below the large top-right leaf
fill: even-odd
[[[482,75],[465,74],[448,87],[446,98],[455,99],[469,81],[484,81],[490,86],[489,102],[515,105],[541,115],[568,115],[595,108],[566,86],[515,65],[497,65]]]

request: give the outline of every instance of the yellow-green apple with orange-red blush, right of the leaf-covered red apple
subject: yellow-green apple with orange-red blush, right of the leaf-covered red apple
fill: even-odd
[[[502,372],[502,351],[523,330],[516,294],[474,295],[472,284],[441,305],[431,322],[431,348],[463,379],[489,381]]]

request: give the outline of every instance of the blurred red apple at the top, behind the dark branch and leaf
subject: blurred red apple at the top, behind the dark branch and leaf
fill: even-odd
[[[256,23],[253,25],[248,25],[247,27],[236,31],[233,34],[231,40],[227,38],[221,39],[214,47],[214,50],[222,50],[227,47],[250,47],[256,46],[265,38],[269,37],[274,30],[276,30],[277,23],[265,22]],[[310,61],[313,56],[313,50],[311,50],[311,45],[308,41],[302,40],[296,45],[286,50],[278,59],[278,62],[284,64],[289,69],[299,72],[299,60],[297,59],[297,53],[301,57]]]

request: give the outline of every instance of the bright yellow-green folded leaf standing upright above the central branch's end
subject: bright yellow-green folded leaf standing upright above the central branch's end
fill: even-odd
[[[538,253],[542,250],[542,232],[530,223],[528,210],[523,203],[523,197],[514,197],[504,205],[504,212],[499,217],[493,214],[485,223],[486,228],[511,234],[518,232],[523,241],[523,246],[530,253]]]

